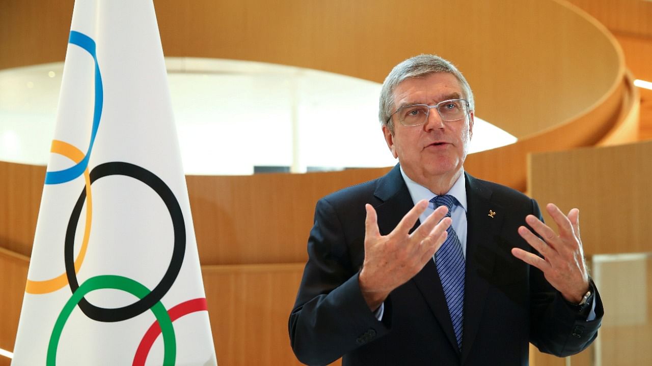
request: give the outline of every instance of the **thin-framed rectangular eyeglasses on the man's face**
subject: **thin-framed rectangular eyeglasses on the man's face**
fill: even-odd
[[[398,122],[404,126],[419,126],[426,123],[431,108],[437,109],[441,120],[452,122],[466,117],[469,111],[469,102],[466,99],[450,99],[443,100],[434,106],[428,106],[427,104],[402,106],[389,116],[387,122],[392,119],[393,115],[396,115]]]

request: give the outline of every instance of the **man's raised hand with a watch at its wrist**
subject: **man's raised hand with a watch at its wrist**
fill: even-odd
[[[532,215],[526,217],[526,222],[543,240],[524,226],[518,228],[518,234],[543,258],[519,248],[513,248],[512,254],[539,268],[550,285],[561,292],[567,301],[579,303],[589,289],[589,275],[580,238],[580,210],[573,208],[565,216],[552,203],[546,206],[546,210],[557,224],[559,235]]]

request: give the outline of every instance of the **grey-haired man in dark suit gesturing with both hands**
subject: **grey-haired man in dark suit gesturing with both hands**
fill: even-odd
[[[604,313],[579,212],[464,172],[473,94],[420,55],[385,79],[379,119],[398,165],[319,200],[289,317],[297,358],[324,365],[527,365],[528,343],[567,356]],[[533,233],[534,231],[535,233]]]

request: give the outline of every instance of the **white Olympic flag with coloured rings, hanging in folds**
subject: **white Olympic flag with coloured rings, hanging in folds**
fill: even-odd
[[[152,0],[77,0],[12,365],[216,365]]]

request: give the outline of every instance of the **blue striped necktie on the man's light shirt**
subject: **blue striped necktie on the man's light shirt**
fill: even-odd
[[[430,200],[435,208],[445,205],[449,212],[446,217],[451,217],[452,207],[456,203],[452,195],[437,196]],[[455,331],[457,345],[462,349],[462,324],[464,322],[464,252],[462,244],[457,237],[452,225],[447,230],[448,236],[435,254],[437,272],[441,279],[441,287],[444,289],[446,303],[451,313],[452,328]]]

